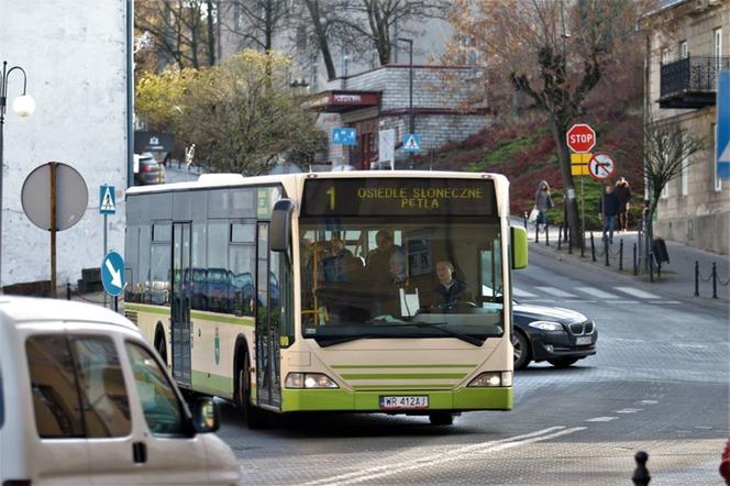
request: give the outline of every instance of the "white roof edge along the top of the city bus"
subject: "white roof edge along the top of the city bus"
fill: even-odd
[[[501,174],[462,173],[453,170],[347,170],[301,174],[279,174],[272,176],[243,177],[241,174],[203,174],[196,181],[135,186],[126,190],[129,195],[167,192],[175,190],[224,188],[236,186],[261,186],[272,184],[299,183],[306,179],[350,179],[350,178],[453,178],[453,179],[504,179]]]

